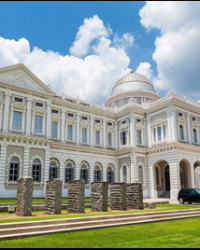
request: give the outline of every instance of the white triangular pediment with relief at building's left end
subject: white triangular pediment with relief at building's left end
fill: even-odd
[[[17,64],[0,69],[0,81],[14,84],[30,91],[35,90],[43,93],[54,94],[36,75],[23,64]]]

